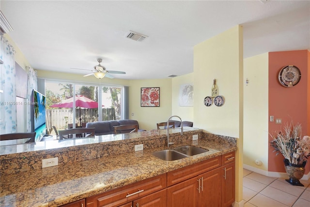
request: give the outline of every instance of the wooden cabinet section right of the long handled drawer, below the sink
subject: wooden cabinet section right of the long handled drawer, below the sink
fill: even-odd
[[[231,207],[234,180],[234,152],[169,172],[167,206]]]

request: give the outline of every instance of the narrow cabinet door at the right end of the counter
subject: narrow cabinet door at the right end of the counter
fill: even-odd
[[[231,207],[235,196],[235,162],[222,166],[222,206]]]

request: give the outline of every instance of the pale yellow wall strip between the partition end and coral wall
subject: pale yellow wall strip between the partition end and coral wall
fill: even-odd
[[[268,53],[244,59],[244,79],[247,78],[248,85],[244,83],[243,161],[248,166],[268,171]]]

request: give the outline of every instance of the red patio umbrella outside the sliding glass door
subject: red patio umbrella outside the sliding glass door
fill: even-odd
[[[53,105],[50,105],[49,107],[73,108],[73,97],[62,100],[60,104],[53,104]],[[85,96],[77,95],[76,96],[76,107],[79,107],[79,122],[80,122],[80,126],[82,126],[81,107],[87,108],[87,109],[95,109],[95,108],[98,108],[98,103]]]

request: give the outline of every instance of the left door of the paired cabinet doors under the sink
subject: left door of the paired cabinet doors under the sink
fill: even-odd
[[[167,188],[167,207],[198,207],[198,176]]]

